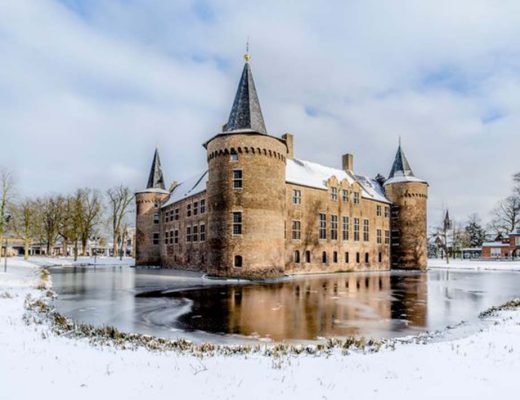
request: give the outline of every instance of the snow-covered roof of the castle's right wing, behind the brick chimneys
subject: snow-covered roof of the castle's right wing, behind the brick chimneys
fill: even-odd
[[[346,179],[350,185],[358,182],[362,188],[361,196],[364,198],[390,203],[384,195],[383,188],[374,179],[354,176],[342,169],[326,167],[310,161],[287,160],[285,180],[288,183],[327,190],[327,181],[333,176],[339,182]]]

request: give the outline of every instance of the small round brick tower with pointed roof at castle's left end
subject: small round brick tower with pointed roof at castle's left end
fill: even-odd
[[[165,190],[159,151],[155,149],[148,185],[135,194],[136,265],[161,265],[161,204],[169,197]]]

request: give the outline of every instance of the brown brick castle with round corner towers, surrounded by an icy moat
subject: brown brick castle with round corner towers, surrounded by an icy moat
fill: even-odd
[[[136,193],[136,264],[216,276],[425,269],[428,183],[401,144],[388,179],[295,158],[269,135],[249,57],[228,122],[209,139],[207,170],[166,190],[156,149]]]

